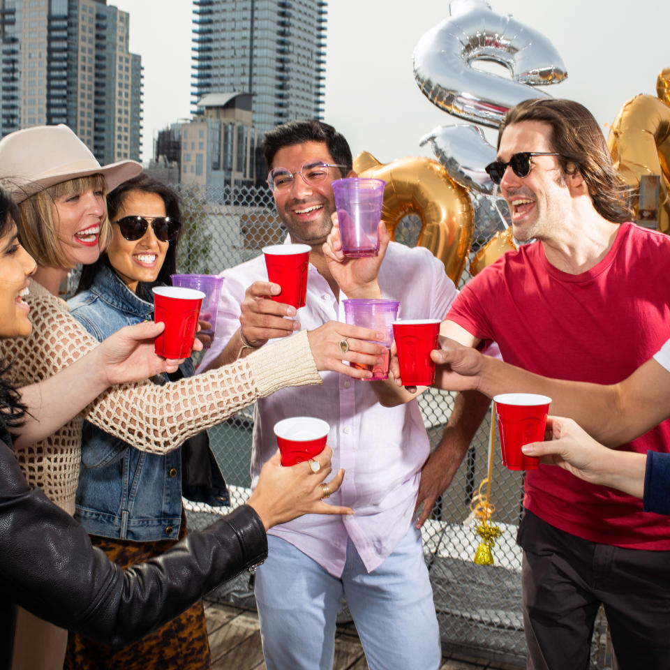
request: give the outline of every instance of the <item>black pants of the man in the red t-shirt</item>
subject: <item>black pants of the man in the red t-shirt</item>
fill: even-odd
[[[516,541],[528,668],[586,670],[602,603],[620,670],[670,669],[670,551],[588,542],[530,512]]]

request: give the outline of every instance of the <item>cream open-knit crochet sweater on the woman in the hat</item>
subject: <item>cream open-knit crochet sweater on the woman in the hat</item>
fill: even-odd
[[[33,332],[0,342],[20,385],[54,375],[98,345],[61,299],[31,283],[27,302]],[[299,333],[230,366],[157,385],[151,380],[107,390],[83,418],[125,442],[165,454],[186,438],[223,422],[258,398],[287,386],[320,384],[306,333]],[[80,466],[82,415],[46,440],[17,450],[30,484],[73,512]]]

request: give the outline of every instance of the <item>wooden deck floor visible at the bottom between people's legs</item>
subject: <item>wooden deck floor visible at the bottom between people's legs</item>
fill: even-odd
[[[212,670],[265,670],[255,611],[206,603],[205,614]],[[355,632],[338,629],[333,670],[368,670]],[[452,655],[444,657],[440,670],[520,670],[520,667]]]

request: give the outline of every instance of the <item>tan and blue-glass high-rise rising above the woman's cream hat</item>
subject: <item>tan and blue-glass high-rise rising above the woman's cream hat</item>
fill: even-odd
[[[0,0],[0,135],[67,124],[101,164],[140,159],[142,64],[106,0]]]

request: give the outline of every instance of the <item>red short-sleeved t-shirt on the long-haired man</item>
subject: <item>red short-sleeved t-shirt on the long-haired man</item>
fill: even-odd
[[[650,359],[670,332],[670,237],[623,223],[605,258],[572,275],[547,262],[539,242],[507,252],[468,282],[448,320],[502,358],[560,379],[612,384]],[[670,452],[670,420],[620,449]],[[562,468],[526,474],[524,506],[592,542],[670,549],[670,519],[642,501],[587,484]]]

